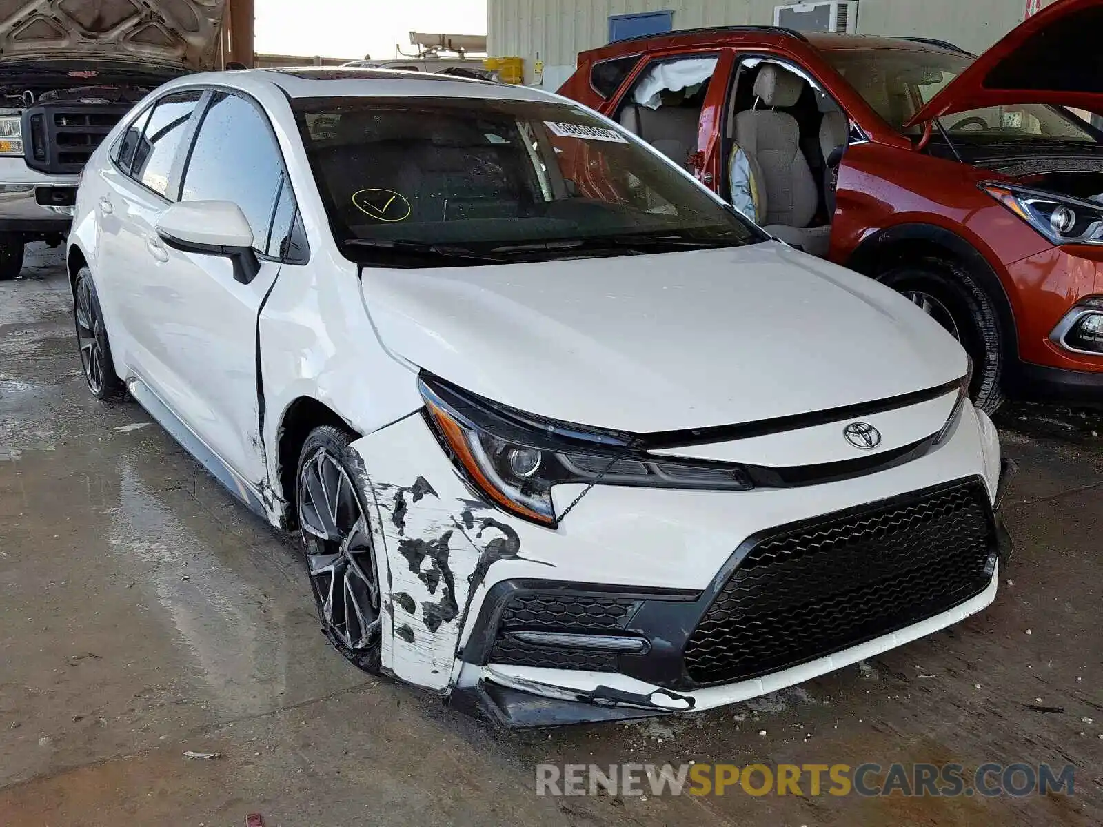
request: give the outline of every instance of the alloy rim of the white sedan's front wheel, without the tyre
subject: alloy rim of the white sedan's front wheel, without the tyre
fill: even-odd
[[[324,448],[299,472],[299,530],[326,633],[350,649],[379,630],[379,588],[367,519],[349,474]]]

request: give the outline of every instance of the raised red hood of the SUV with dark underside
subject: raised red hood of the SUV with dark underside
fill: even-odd
[[[1057,104],[1103,112],[1103,4],[1058,0],[976,58],[904,126],[986,106]]]

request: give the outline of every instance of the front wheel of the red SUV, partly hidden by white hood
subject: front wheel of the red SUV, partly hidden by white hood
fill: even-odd
[[[922,258],[886,270],[877,277],[934,321],[959,342],[973,359],[970,397],[986,414],[1004,401],[1003,333],[995,302],[967,269],[941,258]]]

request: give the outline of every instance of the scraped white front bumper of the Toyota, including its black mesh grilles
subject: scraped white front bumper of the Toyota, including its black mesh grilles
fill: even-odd
[[[956,623],[994,600],[1009,551],[992,508],[1006,471],[974,416],[876,474],[599,485],[547,528],[488,504],[411,415],[352,445],[384,551],[383,668],[508,726],[618,720],[745,700]],[[580,490],[559,487],[561,513]],[[861,545],[870,530],[888,551]]]

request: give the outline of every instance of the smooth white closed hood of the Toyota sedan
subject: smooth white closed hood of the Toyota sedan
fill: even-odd
[[[385,347],[521,410],[634,432],[952,382],[966,356],[888,288],[775,241],[428,270],[364,268]]]

